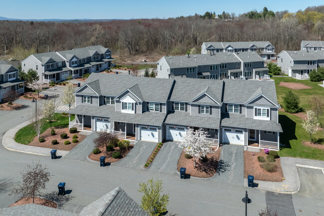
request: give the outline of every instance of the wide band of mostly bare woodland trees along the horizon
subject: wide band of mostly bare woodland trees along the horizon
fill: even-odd
[[[240,16],[227,12],[218,14],[224,18],[214,18],[215,13],[208,12],[206,16],[195,14],[168,19],[104,22],[0,21],[0,42],[6,44],[7,54],[16,59],[47,50],[59,51],[98,44],[110,48],[115,56],[120,57],[184,54],[194,47],[199,53],[204,41],[267,40],[279,53],[283,49],[300,49],[301,40],[323,40],[321,8],[309,7],[293,14],[287,14],[288,11],[273,12],[266,7],[257,15],[253,15],[252,11]],[[4,49],[0,50],[0,54],[4,54]]]

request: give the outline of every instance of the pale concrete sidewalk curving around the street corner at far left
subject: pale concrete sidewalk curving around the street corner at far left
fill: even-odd
[[[10,128],[7,130],[2,138],[2,146],[8,150],[11,151],[17,151],[17,152],[23,152],[28,154],[35,154],[35,155],[44,155],[44,156],[51,156],[51,149],[48,148],[42,148],[37,146],[28,146],[16,143],[14,141],[14,135],[17,133],[17,131],[20,128],[23,128],[24,126],[28,125],[28,122],[21,123],[17,126],[14,126],[13,128]],[[68,151],[62,151],[57,150],[56,155],[57,156],[65,156]]]

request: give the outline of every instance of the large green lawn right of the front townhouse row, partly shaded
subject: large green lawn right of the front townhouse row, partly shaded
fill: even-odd
[[[324,101],[324,88],[319,86],[321,82],[311,82],[310,80],[296,80],[291,77],[272,77],[275,80],[278,103],[283,107],[284,94],[289,90],[289,88],[278,86],[280,82],[296,82],[303,83],[312,88],[310,89],[300,89],[292,90],[297,93],[301,99],[300,106],[303,112],[310,109],[309,100],[311,97],[316,96]],[[302,144],[303,141],[309,141],[310,136],[302,127],[303,120],[293,114],[286,112],[279,112],[279,123],[282,126],[283,133],[280,133],[280,143],[286,145],[286,148],[280,150],[279,155],[284,157],[299,157],[308,158],[315,160],[324,161],[324,151],[306,147]],[[324,114],[320,119],[320,123],[324,125]],[[324,138],[324,132],[318,131],[317,134],[313,135],[315,139]]]

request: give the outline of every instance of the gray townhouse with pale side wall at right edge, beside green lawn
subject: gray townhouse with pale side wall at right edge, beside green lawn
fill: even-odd
[[[313,69],[324,66],[324,50],[283,50],[278,54],[277,64],[290,77],[309,79]]]

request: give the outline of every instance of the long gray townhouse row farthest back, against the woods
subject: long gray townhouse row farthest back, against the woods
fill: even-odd
[[[276,60],[277,54],[269,41],[203,42],[201,54],[210,52],[258,52],[265,60]]]

